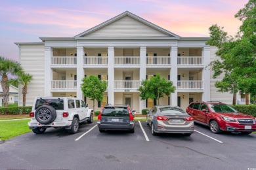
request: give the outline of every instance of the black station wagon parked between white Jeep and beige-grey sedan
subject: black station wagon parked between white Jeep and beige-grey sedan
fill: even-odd
[[[98,115],[98,129],[100,132],[106,130],[128,130],[135,131],[134,114],[129,105],[105,105]]]

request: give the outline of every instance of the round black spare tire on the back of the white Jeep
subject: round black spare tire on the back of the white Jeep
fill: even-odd
[[[56,110],[51,106],[41,106],[35,110],[35,119],[40,124],[51,124],[56,118]]]

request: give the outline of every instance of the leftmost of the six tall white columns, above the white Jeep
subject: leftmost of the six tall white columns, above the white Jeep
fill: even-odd
[[[51,59],[53,57],[53,48],[45,46],[45,96],[53,96],[51,93],[51,84],[53,80],[53,70],[51,69]]]

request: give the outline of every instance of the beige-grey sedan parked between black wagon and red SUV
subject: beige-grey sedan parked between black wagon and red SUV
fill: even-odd
[[[180,107],[154,106],[146,115],[152,135],[157,133],[182,133],[190,136],[194,133],[193,118]]]

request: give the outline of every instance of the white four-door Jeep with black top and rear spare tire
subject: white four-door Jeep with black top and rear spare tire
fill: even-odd
[[[93,123],[93,110],[83,99],[72,97],[35,97],[28,126],[33,133],[44,133],[49,127],[65,127],[77,133],[79,123]]]

